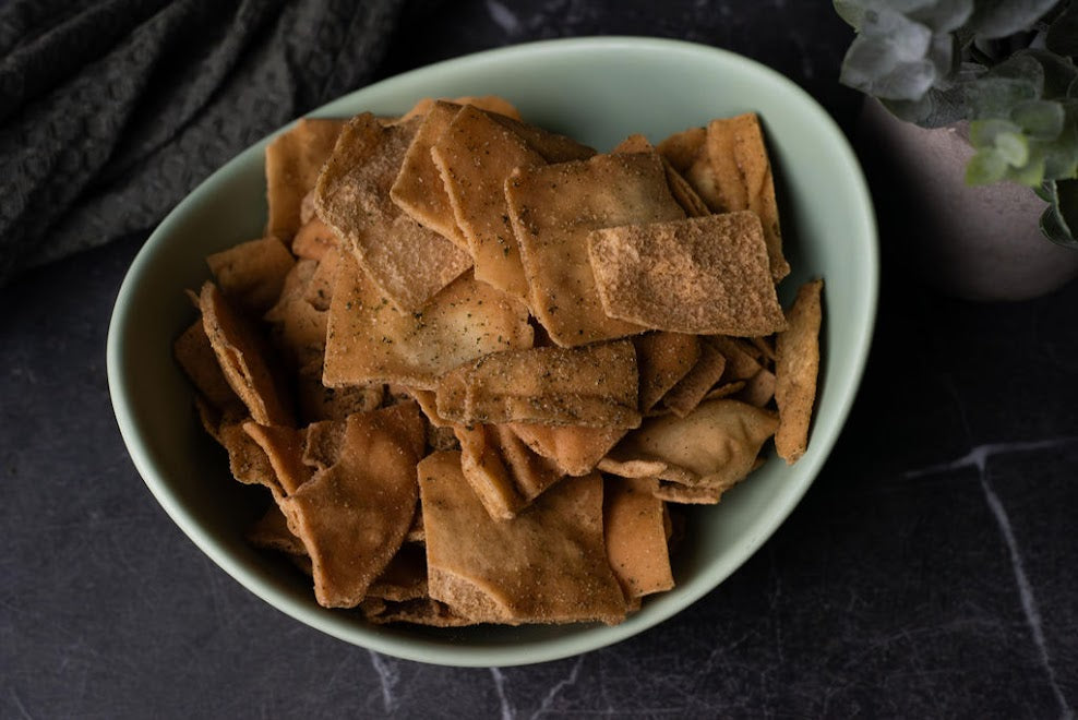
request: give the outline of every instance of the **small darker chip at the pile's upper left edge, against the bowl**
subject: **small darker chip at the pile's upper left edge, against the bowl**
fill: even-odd
[[[261,315],[280,297],[296,259],[285,243],[268,237],[214,253],[206,257],[206,264],[229,300]]]

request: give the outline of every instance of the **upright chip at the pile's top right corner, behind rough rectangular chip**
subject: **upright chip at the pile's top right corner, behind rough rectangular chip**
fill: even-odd
[[[790,274],[782,256],[782,232],[771,164],[755,112],[712,120],[707,125],[707,156],[715,172],[721,211],[747,209],[759,216],[771,277],[776,283]]]

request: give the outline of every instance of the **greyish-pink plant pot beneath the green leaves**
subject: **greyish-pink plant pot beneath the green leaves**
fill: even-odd
[[[973,155],[966,125],[925,130],[867,98],[859,145],[875,172],[893,175],[891,215],[911,218],[901,254],[929,284],[969,300],[1025,300],[1078,277],[1078,251],[1053,244],[1038,228],[1045,204],[1014,183],[971,188]],[[881,221],[888,221],[882,212]],[[902,219],[895,220],[902,223]],[[888,228],[882,228],[885,241]]]

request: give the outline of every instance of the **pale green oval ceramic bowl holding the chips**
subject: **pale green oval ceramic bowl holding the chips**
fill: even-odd
[[[194,319],[183,296],[208,277],[204,257],[256,238],[265,224],[268,139],[215,172],[160,224],[120,288],[108,379],[123,440],[146,485],[177,525],[249,590],[292,617],[387,655],[451,665],[554,660],[616,643],[670,617],[738,568],[789,515],[835,444],[861,380],[876,311],[876,230],[869,192],[830,117],[796,85],[714,48],[645,38],[523,45],[451,60],[378,83],[312,115],[399,113],[424,96],[502,95],[524,117],[606,151],[634,132],[658,141],[716,117],[755,110],[772,153],[786,251],[800,283],[826,278],[821,396],[808,452],[769,461],[722,503],[690,512],[675,557],[678,587],[616,627],[378,627],[314,602],[309,580],[250,548],[251,493],[199,428],[191,387],[172,360]]]

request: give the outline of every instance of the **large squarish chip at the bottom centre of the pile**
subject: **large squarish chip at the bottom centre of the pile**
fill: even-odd
[[[624,620],[607,561],[602,479],[568,478],[512,520],[487,514],[459,453],[419,464],[430,593],[478,621],[520,624]]]

